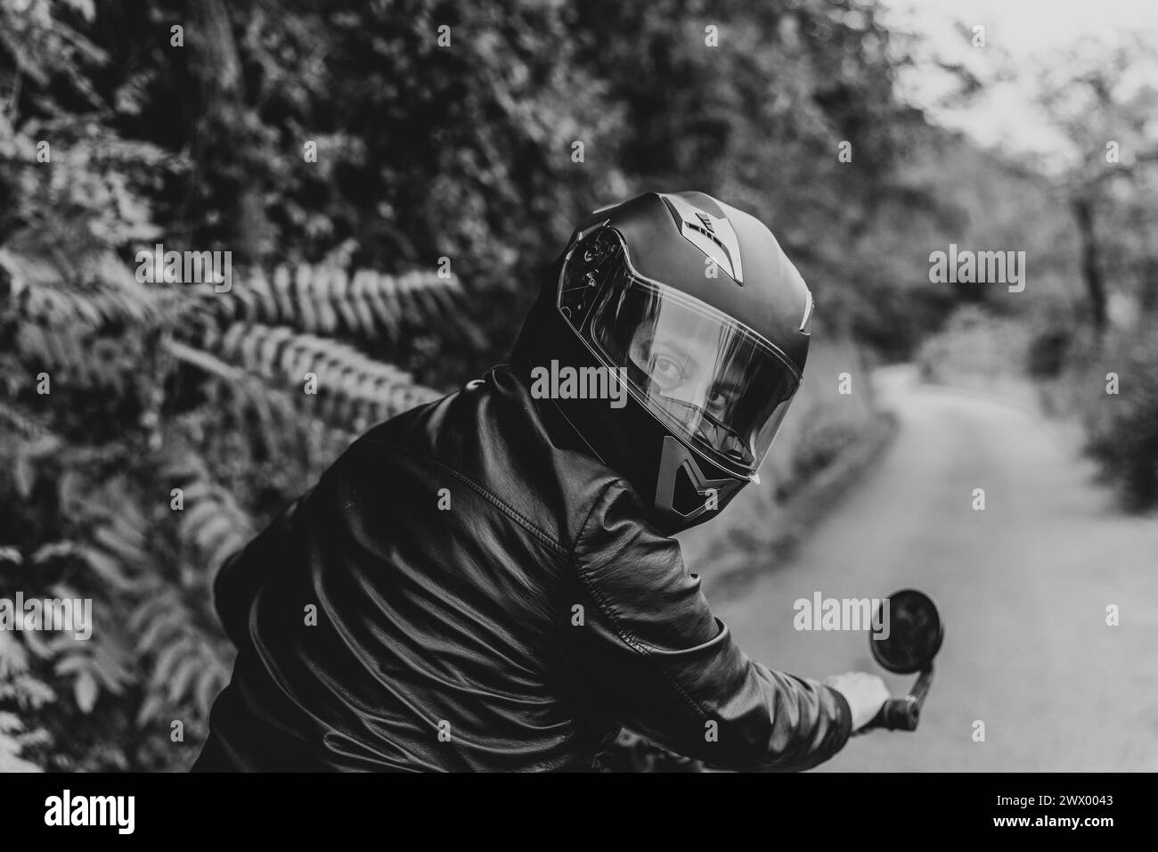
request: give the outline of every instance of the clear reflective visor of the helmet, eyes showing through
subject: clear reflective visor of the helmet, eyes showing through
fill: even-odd
[[[736,475],[752,476],[768,453],[800,384],[797,370],[763,337],[727,314],[640,278],[622,246],[594,274],[569,285],[587,303],[580,334],[628,389],[676,436]],[[622,369],[622,370],[621,370]]]

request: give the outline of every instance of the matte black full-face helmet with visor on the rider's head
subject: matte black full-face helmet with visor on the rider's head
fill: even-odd
[[[528,381],[587,377],[551,384],[547,405],[670,534],[760,481],[800,384],[812,308],[754,217],[702,192],[651,192],[579,223],[513,361]],[[599,373],[599,387],[626,393],[593,399],[584,391]]]

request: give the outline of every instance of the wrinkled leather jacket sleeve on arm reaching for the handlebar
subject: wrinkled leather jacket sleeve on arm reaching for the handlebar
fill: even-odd
[[[640,522],[622,482],[580,530],[573,569],[577,599],[559,625],[563,678],[592,712],[721,769],[806,770],[848,742],[844,697],[749,660],[679,544]]]

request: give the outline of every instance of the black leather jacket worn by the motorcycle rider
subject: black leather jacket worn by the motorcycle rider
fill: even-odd
[[[589,770],[621,726],[805,770],[844,698],[749,660],[631,486],[510,366],[373,427],[214,581],[195,770]]]

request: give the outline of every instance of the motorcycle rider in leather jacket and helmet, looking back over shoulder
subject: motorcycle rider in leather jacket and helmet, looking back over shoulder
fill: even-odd
[[[831,757],[884,683],[746,657],[670,538],[758,481],[811,313],[706,195],[587,217],[511,363],[371,429],[222,568],[237,660],[195,769],[587,770],[621,726],[724,769]],[[532,393],[552,362],[625,403]]]

